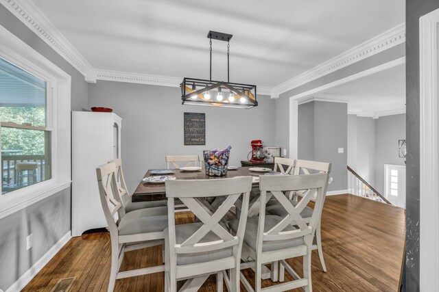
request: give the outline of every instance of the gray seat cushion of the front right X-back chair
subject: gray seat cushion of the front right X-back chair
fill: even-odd
[[[276,215],[265,215],[265,224],[263,227],[264,232],[267,232],[276,224],[281,222],[283,218]],[[228,222],[228,226],[233,230],[234,233],[237,232],[239,220],[233,220]],[[246,233],[244,235],[244,242],[256,251],[256,237],[258,233],[259,217],[248,217],[246,225]],[[287,226],[283,231],[296,230],[294,226]],[[283,250],[285,248],[294,248],[298,245],[305,244],[302,237],[296,239],[286,239],[277,241],[264,241],[262,246],[263,252],[270,252],[273,250]]]

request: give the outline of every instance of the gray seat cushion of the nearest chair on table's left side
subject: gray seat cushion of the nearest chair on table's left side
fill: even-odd
[[[165,209],[166,213],[163,213]],[[126,213],[119,223],[119,235],[157,233],[167,228],[167,207],[156,207]]]

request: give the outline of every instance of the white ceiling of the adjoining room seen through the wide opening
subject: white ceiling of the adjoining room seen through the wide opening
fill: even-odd
[[[348,101],[349,114],[383,116],[401,113],[405,111],[405,64],[339,85],[323,94]]]

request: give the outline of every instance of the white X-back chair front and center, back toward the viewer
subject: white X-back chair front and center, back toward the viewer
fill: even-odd
[[[175,292],[177,281],[186,280],[179,291],[197,291],[210,274],[217,275],[217,291],[223,280],[229,292],[239,291],[239,263],[246,228],[248,196],[252,178],[166,181],[169,227],[165,229],[165,291]],[[206,208],[206,197],[226,199],[216,210]],[[237,230],[231,235],[223,217],[243,196]],[[200,222],[175,224],[174,200],[181,200]],[[226,273],[228,271],[228,274]]]

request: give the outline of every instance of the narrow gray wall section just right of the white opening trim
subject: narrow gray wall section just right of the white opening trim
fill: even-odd
[[[288,99],[288,98],[285,98]],[[298,106],[298,159],[314,160],[314,102]]]

